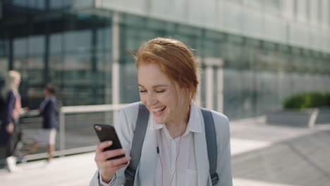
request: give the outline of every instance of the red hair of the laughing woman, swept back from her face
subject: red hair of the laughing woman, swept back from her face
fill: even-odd
[[[139,68],[145,63],[156,63],[161,71],[176,82],[179,87],[188,89],[185,94],[185,106],[195,99],[197,85],[197,60],[192,51],[176,39],[157,37],[140,46],[135,54],[135,65]]]

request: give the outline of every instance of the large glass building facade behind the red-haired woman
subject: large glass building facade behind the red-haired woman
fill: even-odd
[[[133,52],[148,39],[171,37],[194,49],[201,64],[198,103],[229,118],[259,116],[281,109],[283,99],[296,92],[330,91],[329,9],[328,0],[189,6],[4,0],[0,81],[8,70],[22,73],[23,106],[32,109],[47,82],[58,87],[65,106],[138,101]]]

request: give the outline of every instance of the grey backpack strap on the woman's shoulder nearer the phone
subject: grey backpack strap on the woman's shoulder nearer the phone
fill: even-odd
[[[136,120],[132,148],[130,149],[130,165],[125,170],[126,183],[125,186],[133,186],[135,172],[141,158],[143,141],[145,140],[145,132],[147,130],[149,120],[149,111],[142,102],[139,104],[138,120]]]

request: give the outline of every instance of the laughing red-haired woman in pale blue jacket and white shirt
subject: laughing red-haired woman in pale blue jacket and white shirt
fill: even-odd
[[[211,186],[207,134],[202,113],[193,101],[199,83],[195,56],[176,39],[155,38],[140,47],[135,60],[140,99],[151,114],[134,185]],[[97,146],[94,160],[99,171],[90,185],[124,184],[138,108],[135,103],[121,109],[115,123],[123,149],[103,151],[112,142]],[[212,116],[218,151],[216,185],[232,185],[228,118],[215,111]],[[107,160],[120,154],[126,157]]]

